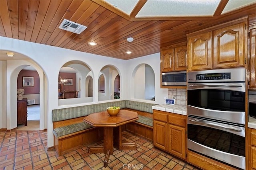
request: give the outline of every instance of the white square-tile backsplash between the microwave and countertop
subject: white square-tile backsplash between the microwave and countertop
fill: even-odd
[[[184,88],[168,89],[168,98],[175,99],[175,104],[187,105],[187,90]]]

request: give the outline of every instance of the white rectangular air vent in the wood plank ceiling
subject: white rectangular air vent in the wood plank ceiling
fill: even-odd
[[[87,27],[84,25],[80,25],[78,23],[69,21],[64,19],[62,23],[59,26],[60,29],[64,29],[66,31],[70,31],[72,33],[80,34],[82,31],[84,31]]]

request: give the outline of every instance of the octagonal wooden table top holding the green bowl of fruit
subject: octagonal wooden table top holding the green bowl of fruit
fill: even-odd
[[[107,111],[101,111],[86,116],[84,121],[94,127],[117,127],[138,119],[137,112],[120,109],[116,116],[110,116]]]

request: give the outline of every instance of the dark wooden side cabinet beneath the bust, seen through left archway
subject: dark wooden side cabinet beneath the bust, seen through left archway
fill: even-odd
[[[27,125],[27,117],[28,117],[28,99],[23,98],[22,100],[17,100],[17,124]]]

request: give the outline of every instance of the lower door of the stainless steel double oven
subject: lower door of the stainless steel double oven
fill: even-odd
[[[188,116],[188,149],[245,169],[245,127]]]

